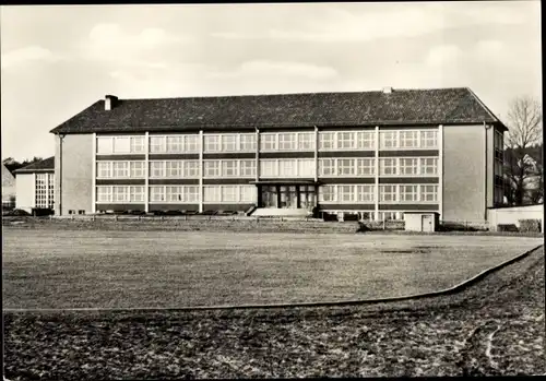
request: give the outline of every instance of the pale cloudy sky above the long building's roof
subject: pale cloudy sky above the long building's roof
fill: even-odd
[[[2,158],[120,98],[471,87],[542,96],[539,1],[1,7]]]

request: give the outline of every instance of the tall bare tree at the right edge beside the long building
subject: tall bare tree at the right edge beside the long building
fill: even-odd
[[[505,195],[511,205],[523,205],[530,193],[534,193],[533,199],[536,199],[543,192],[542,181],[535,181],[538,172],[542,175],[542,108],[536,99],[517,97],[511,102],[507,123],[509,131],[505,138]],[[533,153],[538,144],[539,166],[538,157]]]

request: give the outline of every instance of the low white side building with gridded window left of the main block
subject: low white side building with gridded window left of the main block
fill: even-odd
[[[28,213],[55,211],[55,156],[19,168],[15,174],[15,207]]]

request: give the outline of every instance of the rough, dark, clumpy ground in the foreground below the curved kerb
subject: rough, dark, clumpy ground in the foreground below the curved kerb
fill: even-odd
[[[343,308],[4,312],[10,380],[537,376],[544,250],[462,293]]]

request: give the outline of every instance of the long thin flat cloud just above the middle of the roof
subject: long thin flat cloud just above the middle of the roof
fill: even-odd
[[[337,76],[335,69],[311,63],[253,60],[244,62],[235,71],[211,72],[209,78],[288,76],[324,80]]]

